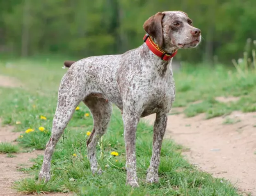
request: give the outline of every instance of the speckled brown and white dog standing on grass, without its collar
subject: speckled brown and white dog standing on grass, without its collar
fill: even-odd
[[[197,47],[201,31],[182,11],[158,12],[143,25],[146,33],[165,52]],[[167,115],[175,99],[171,68],[172,58],[162,60],[146,43],[121,55],[93,56],[70,67],[61,80],[52,135],[46,145],[39,179],[50,179],[50,161],[55,146],[75,108],[83,101],[90,109],[94,129],[87,141],[92,173],[101,174],[96,160],[96,144],[110,121],[112,103],[123,113],[126,145],[126,184],[139,186],[136,174],[135,133],[140,117],[156,113],[153,127],[153,151],[146,181],[158,182],[160,150],[167,125]],[[71,66],[72,65],[72,66]],[[107,100],[107,101],[106,101]]]

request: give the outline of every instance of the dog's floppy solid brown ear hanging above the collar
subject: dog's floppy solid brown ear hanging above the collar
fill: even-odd
[[[146,22],[144,22],[144,30],[153,38],[155,38],[159,47],[164,44],[164,36],[162,30],[162,18],[164,13],[158,12],[154,16],[151,16]]]

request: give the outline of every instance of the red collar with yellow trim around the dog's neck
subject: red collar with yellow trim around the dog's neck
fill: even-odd
[[[151,39],[151,37],[149,36],[148,33],[146,33],[143,40],[144,40],[144,42],[146,42],[146,45],[149,47],[149,49],[156,56],[159,56],[162,60],[170,60],[171,58],[173,58],[176,55],[176,53],[178,51],[178,50],[176,50],[174,53],[165,52],[157,44],[155,44],[155,42],[153,42],[153,40]]]

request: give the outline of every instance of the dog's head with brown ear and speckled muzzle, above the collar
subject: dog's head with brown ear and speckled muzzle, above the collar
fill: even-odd
[[[192,26],[192,20],[182,11],[164,11],[151,16],[143,25],[159,47],[171,53],[180,48],[197,47],[201,31]]]

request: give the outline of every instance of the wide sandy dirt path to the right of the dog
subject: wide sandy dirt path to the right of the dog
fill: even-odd
[[[229,118],[239,121],[234,124],[223,124],[222,117],[203,117],[170,115],[165,137],[189,148],[183,154],[199,169],[229,179],[241,192],[256,196],[256,113],[233,112]],[[153,123],[155,115],[144,119]]]

